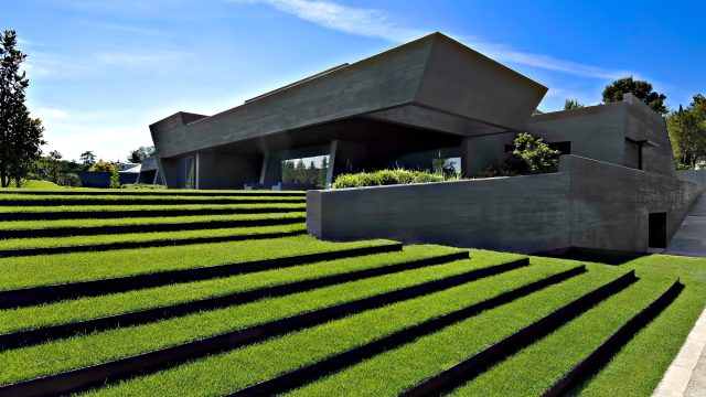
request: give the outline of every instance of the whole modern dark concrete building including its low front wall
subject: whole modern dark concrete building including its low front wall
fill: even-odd
[[[199,189],[279,185],[284,160],[319,155],[328,155],[329,183],[342,172],[431,169],[438,158],[458,159],[473,176],[527,131],[565,154],[558,172],[310,191],[308,230],[515,251],[666,246],[702,187],[676,178],[663,118],[631,94],[542,114],[546,92],[434,33],[150,130],[165,184]]]

